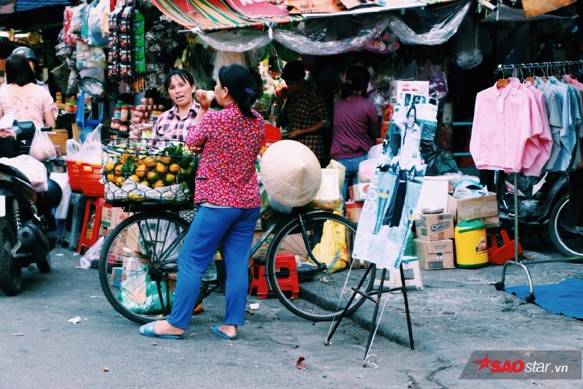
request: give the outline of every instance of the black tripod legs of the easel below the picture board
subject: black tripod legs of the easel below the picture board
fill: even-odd
[[[360,280],[359,285],[356,288],[352,287],[353,293],[352,293],[352,296],[350,297],[348,304],[346,304],[346,307],[342,311],[342,313],[340,314],[338,321],[336,321],[332,330],[328,334],[328,339],[326,339],[326,341],[324,342],[325,345],[330,344],[330,339],[332,339],[332,335],[334,335],[334,332],[336,332],[336,329],[340,325],[340,321],[342,321],[342,319],[346,317],[346,312],[348,311],[349,307],[352,305],[352,302],[353,302],[354,298],[356,297],[356,295],[361,295],[364,298],[366,298],[367,300],[370,300],[371,302],[373,302],[375,304],[375,306],[374,306],[373,320],[371,321],[370,332],[368,334],[366,351],[364,352],[363,366],[367,366],[368,352],[370,351],[370,346],[373,342],[374,335],[377,332],[376,330],[378,327],[378,324],[377,324],[378,306],[381,303],[381,296],[383,293],[389,293],[389,292],[393,292],[395,290],[401,290],[401,292],[403,293],[403,300],[405,300],[405,314],[407,316],[407,329],[409,331],[409,345],[410,345],[412,350],[415,349],[415,345],[413,344],[413,331],[411,328],[411,316],[409,313],[409,301],[407,300],[407,287],[405,285],[405,274],[403,274],[403,264],[401,263],[401,265],[399,265],[399,271],[401,272],[401,288],[393,288],[393,289],[384,288],[384,281],[385,281],[385,276],[387,276],[387,269],[383,268],[382,272],[381,272],[381,283],[378,286],[378,289],[373,289],[370,292],[364,292],[360,288],[362,288],[364,281],[368,277],[368,273],[370,273],[370,271],[371,271],[371,269],[373,269],[373,267],[374,267],[374,265],[370,264],[370,267],[368,267],[366,272],[364,272],[363,278]]]

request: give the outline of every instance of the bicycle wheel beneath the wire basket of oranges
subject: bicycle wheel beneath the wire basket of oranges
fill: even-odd
[[[108,302],[138,324],[170,314],[188,223],[170,212],[136,213],[103,243],[99,281]]]

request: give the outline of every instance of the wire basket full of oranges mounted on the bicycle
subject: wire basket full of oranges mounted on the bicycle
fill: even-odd
[[[181,141],[103,141],[103,182],[109,204],[131,201],[187,204],[194,195],[199,157]]]

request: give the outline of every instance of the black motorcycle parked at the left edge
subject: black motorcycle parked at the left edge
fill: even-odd
[[[14,122],[17,154],[29,152],[33,122]],[[41,128],[50,131],[50,127]],[[50,251],[56,236],[47,237],[48,221],[40,216],[37,194],[30,181],[14,167],[0,164],[0,289],[8,296],[22,288],[22,268],[36,264],[38,271],[51,271]]]

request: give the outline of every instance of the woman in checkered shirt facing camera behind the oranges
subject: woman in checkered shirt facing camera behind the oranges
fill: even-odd
[[[184,141],[201,108],[193,96],[196,90],[194,79],[190,73],[174,69],[166,75],[164,87],[175,106],[160,115],[150,139]]]

